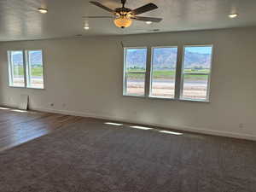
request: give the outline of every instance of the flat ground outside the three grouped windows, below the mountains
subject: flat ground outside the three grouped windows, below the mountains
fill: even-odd
[[[183,98],[207,99],[207,74],[190,73],[210,73],[207,69],[185,69],[183,79]],[[131,95],[143,95],[145,84],[145,70],[129,69],[127,80],[127,93]],[[172,81],[168,81],[172,80]],[[164,96],[173,98],[175,95],[175,70],[154,70],[152,80],[152,96]]]

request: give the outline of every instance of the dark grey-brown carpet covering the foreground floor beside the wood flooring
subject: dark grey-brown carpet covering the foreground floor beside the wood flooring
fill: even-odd
[[[0,154],[4,192],[256,191],[256,143],[83,119]]]

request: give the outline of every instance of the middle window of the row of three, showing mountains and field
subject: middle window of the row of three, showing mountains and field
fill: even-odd
[[[154,47],[150,96],[174,98],[177,47]]]

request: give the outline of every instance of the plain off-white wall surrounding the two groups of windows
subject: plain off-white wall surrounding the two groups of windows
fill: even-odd
[[[2,43],[0,103],[16,106],[20,94],[26,93],[34,109],[255,139],[255,34],[253,27]],[[213,44],[211,102],[122,96],[120,41],[126,46]],[[8,49],[44,50],[45,90],[8,86]]]

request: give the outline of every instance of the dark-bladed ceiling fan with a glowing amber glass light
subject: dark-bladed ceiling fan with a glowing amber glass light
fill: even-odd
[[[145,4],[142,7],[139,7],[137,9],[125,8],[126,0],[121,0],[122,7],[116,8],[116,9],[110,9],[105,5],[103,5],[102,3],[95,2],[95,1],[90,1],[90,3],[112,13],[113,16],[86,16],[84,18],[95,18],[95,19],[112,18],[115,26],[118,26],[120,28],[131,26],[133,20],[142,20],[142,21],[149,21],[149,22],[160,22],[162,20],[162,18],[156,18],[156,17],[137,16],[145,12],[157,9],[158,7],[154,3]]]

